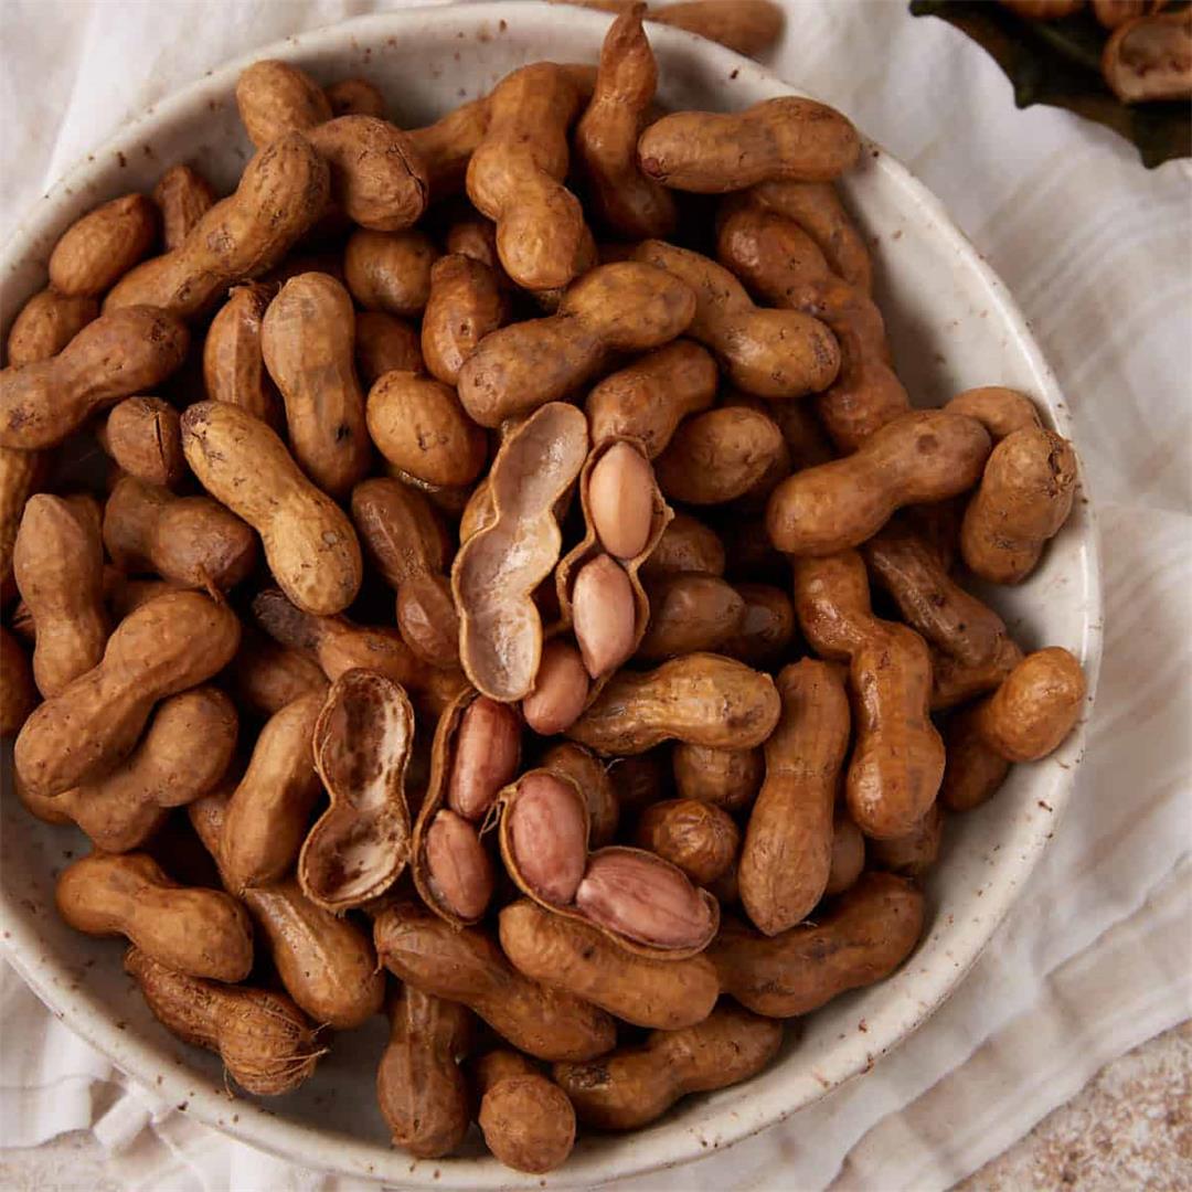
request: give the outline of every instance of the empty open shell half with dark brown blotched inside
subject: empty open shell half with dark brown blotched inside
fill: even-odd
[[[405,768],[414,708],[392,679],[341,675],[315,721],[315,769],[331,806],[298,857],[303,893],[328,911],[362,906],[389,889],[410,855]]]

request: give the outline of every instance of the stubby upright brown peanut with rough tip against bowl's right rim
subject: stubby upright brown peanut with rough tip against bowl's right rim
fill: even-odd
[[[991,583],[1020,583],[1068,520],[1075,495],[1072,443],[1042,427],[1007,435],[994,447],[964,510],[966,566]]]

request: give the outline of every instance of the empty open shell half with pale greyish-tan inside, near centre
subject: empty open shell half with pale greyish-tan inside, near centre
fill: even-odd
[[[544,637],[534,590],[558,563],[563,534],[555,502],[575,483],[586,454],[582,410],[561,402],[536,410],[492,464],[492,521],[455,555],[451,581],[460,662],[490,699],[511,703],[533,689]]]

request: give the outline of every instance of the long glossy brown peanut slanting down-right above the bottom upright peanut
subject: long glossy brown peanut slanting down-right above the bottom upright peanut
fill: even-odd
[[[408,986],[473,1010],[540,1060],[591,1060],[613,1047],[613,1019],[589,1002],[523,977],[477,927],[457,930],[405,902],[373,923],[377,955]]]

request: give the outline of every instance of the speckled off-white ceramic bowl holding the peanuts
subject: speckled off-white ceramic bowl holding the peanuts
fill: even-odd
[[[249,145],[232,88],[240,70],[256,58],[286,58],[322,81],[362,74],[385,91],[391,118],[415,126],[486,92],[524,62],[594,62],[607,23],[598,13],[526,2],[421,8],[360,18],[255,51],[145,112],[44,197],[0,262],[6,318],[45,284],[45,260],[57,236],[100,200],[148,191],[175,161],[194,162],[223,190],[234,185]],[[660,64],[660,99],[670,107],[733,110],[793,91],[757,64],[690,35],[652,26],[651,41]],[[899,373],[917,403],[936,405],[971,385],[1011,385],[1031,393],[1053,424],[1069,434],[1062,396],[1022,315],[939,203],[871,144],[845,190],[877,238],[877,297]],[[890,248],[895,241],[896,249]],[[1031,579],[999,590],[992,601],[1023,646],[1074,651],[1092,690],[1101,596],[1085,498],[1076,501]],[[1016,766],[987,806],[952,818],[929,883],[926,935],[890,980],[814,1014],[802,1038],[788,1043],[778,1062],[755,1080],[688,1098],[627,1138],[585,1137],[546,1182],[590,1186],[695,1159],[783,1120],[865,1072],[948,997],[989,939],[1051,837],[1084,745],[1080,727],[1053,757]],[[229,1100],[218,1061],[178,1043],[149,1016],[122,973],[120,942],[91,939],[58,921],[54,877],[86,851],[81,834],[33,820],[10,789],[0,826],[6,954],[55,1014],[149,1089],[210,1125],[311,1168],[408,1187],[521,1182],[482,1157],[479,1147],[464,1157],[421,1163],[389,1148],[373,1092],[385,1037],[380,1018],[336,1039],[316,1078],[298,1092],[267,1103]]]

